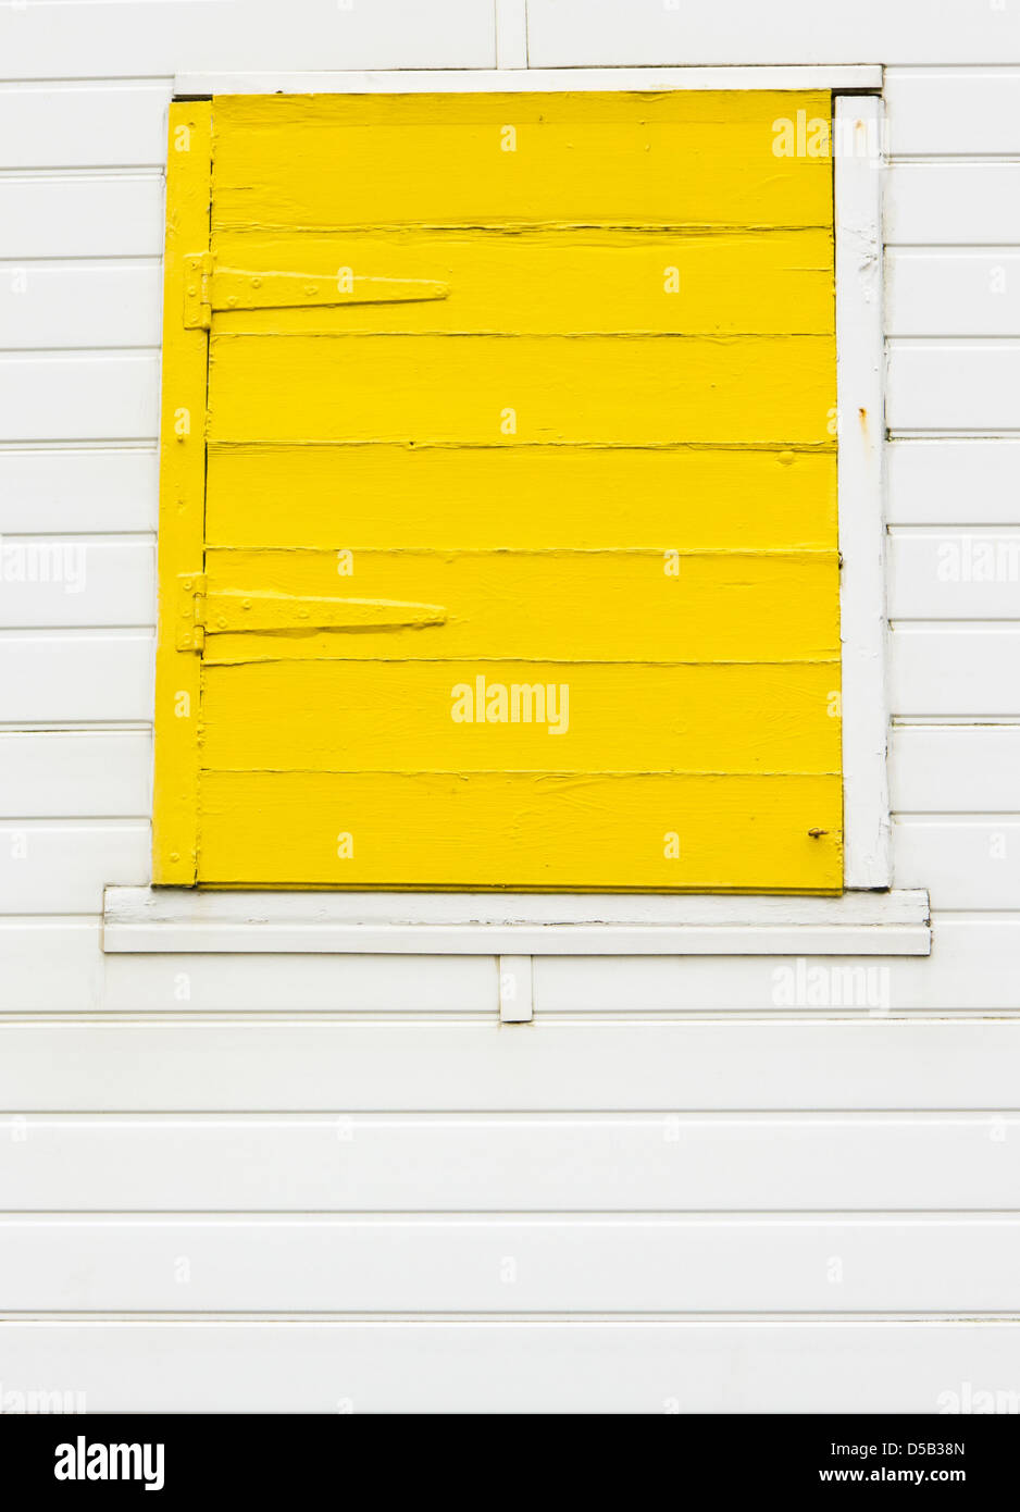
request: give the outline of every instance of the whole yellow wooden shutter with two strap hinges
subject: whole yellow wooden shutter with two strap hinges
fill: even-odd
[[[209,233],[171,122],[159,881],[840,889],[798,110],[828,97],[218,98]]]

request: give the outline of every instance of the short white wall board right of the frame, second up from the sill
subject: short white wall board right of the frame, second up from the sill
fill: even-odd
[[[1020,807],[1020,727],[901,724],[890,751],[893,807],[1000,813]]]

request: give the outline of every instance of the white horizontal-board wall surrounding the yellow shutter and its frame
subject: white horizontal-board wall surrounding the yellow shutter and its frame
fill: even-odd
[[[497,33],[491,0],[3,6],[0,532],[73,579],[0,573],[5,1391],[1020,1390],[1020,582],[940,575],[963,537],[1020,546],[1020,0],[529,23],[536,67],[889,65],[895,859],[934,953],[866,963],[857,1007],[784,1005],[777,960],[539,960],[520,1027],[493,959],[101,954],[103,885],[148,880],[172,76],[491,68]]]

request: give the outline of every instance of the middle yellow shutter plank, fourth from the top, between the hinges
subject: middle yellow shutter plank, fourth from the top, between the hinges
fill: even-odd
[[[834,451],[213,445],[207,466],[210,546],[837,543]]]

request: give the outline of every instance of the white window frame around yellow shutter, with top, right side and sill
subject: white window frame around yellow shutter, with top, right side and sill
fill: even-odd
[[[834,156],[843,894],[206,892],[107,888],[107,951],[928,954],[928,895],[892,891],[884,520],[882,70],[529,70],[523,5],[497,70],[181,74],[174,95],[830,89]],[[843,92],[848,91],[848,92]],[[848,144],[852,150],[846,151]]]

